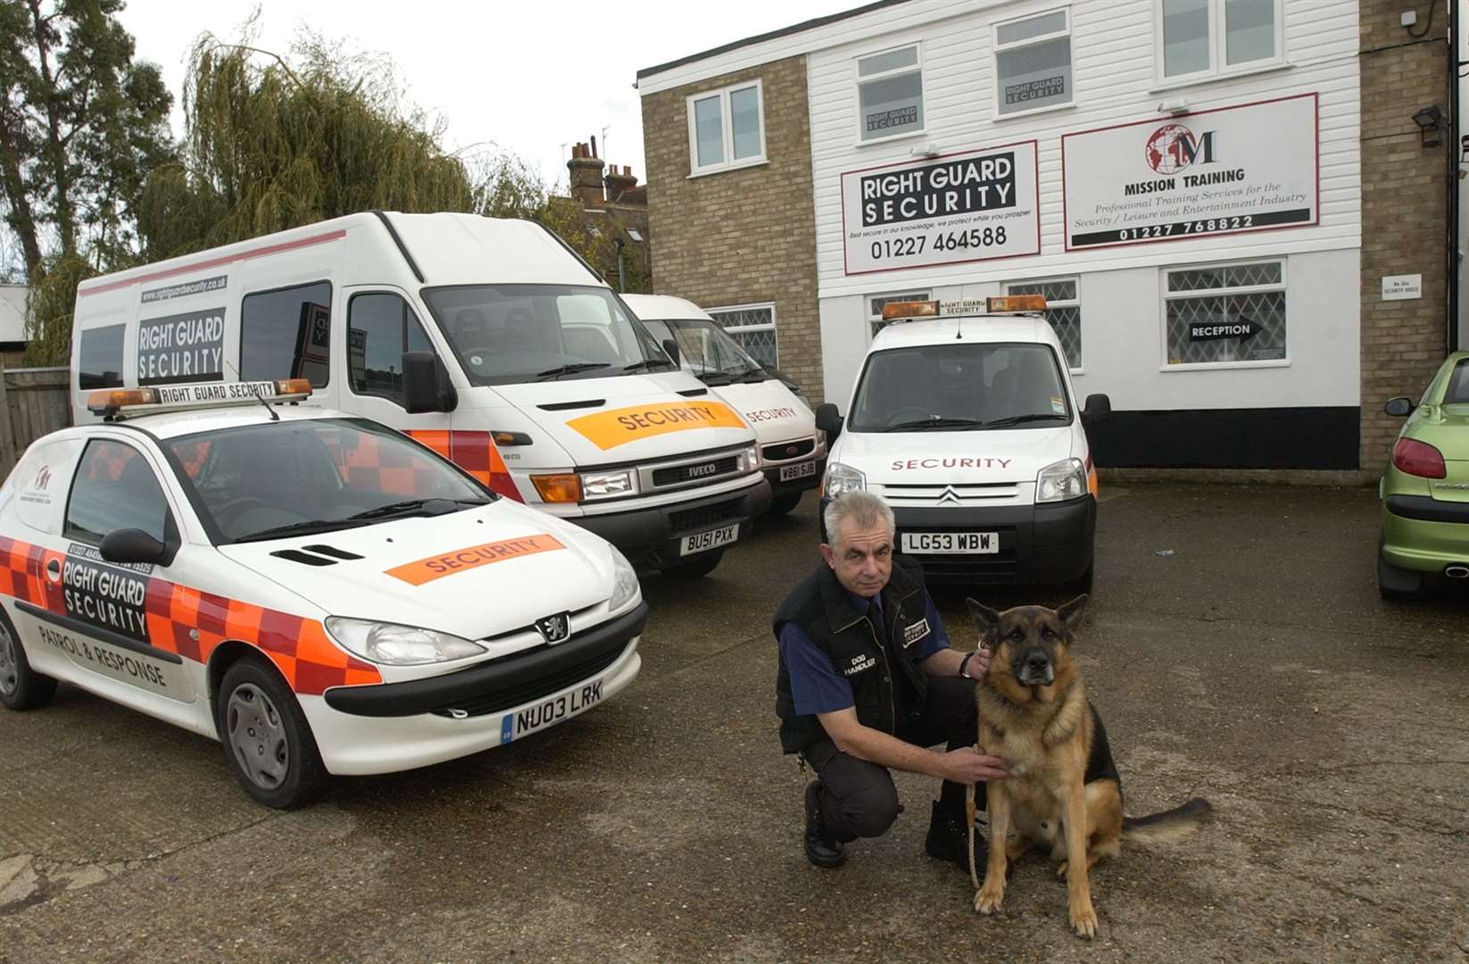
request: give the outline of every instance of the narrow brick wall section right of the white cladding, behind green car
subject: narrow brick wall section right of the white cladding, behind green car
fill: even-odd
[[[1416,7],[1422,43],[1400,25]],[[1447,348],[1450,204],[1448,18],[1443,3],[1362,0],[1362,475],[1387,466],[1401,419],[1394,395],[1418,400]],[[1384,48],[1385,47],[1385,48]],[[1443,144],[1423,147],[1413,113],[1443,110]],[[1422,275],[1423,297],[1384,301],[1384,275]]]

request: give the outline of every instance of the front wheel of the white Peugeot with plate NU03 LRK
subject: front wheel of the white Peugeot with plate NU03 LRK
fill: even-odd
[[[326,789],[316,738],[273,666],[254,657],[231,666],[214,697],[214,724],[229,770],[256,802],[294,810]]]

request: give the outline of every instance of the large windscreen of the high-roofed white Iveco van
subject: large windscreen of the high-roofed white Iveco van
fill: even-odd
[[[673,367],[607,288],[458,285],[425,288],[423,300],[474,385]]]

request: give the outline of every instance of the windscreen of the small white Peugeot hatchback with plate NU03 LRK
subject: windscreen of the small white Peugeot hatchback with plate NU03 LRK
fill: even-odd
[[[438,516],[498,498],[417,442],[363,419],[267,422],[165,445],[220,542]]]

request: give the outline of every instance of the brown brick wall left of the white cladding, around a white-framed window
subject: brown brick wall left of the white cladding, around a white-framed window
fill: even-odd
[[[690,178],[686,98],[761,78],[768,163]],[[780,367],[823,398],[805,57],[642,98],[652,284],[699,307],[774,301]]]

